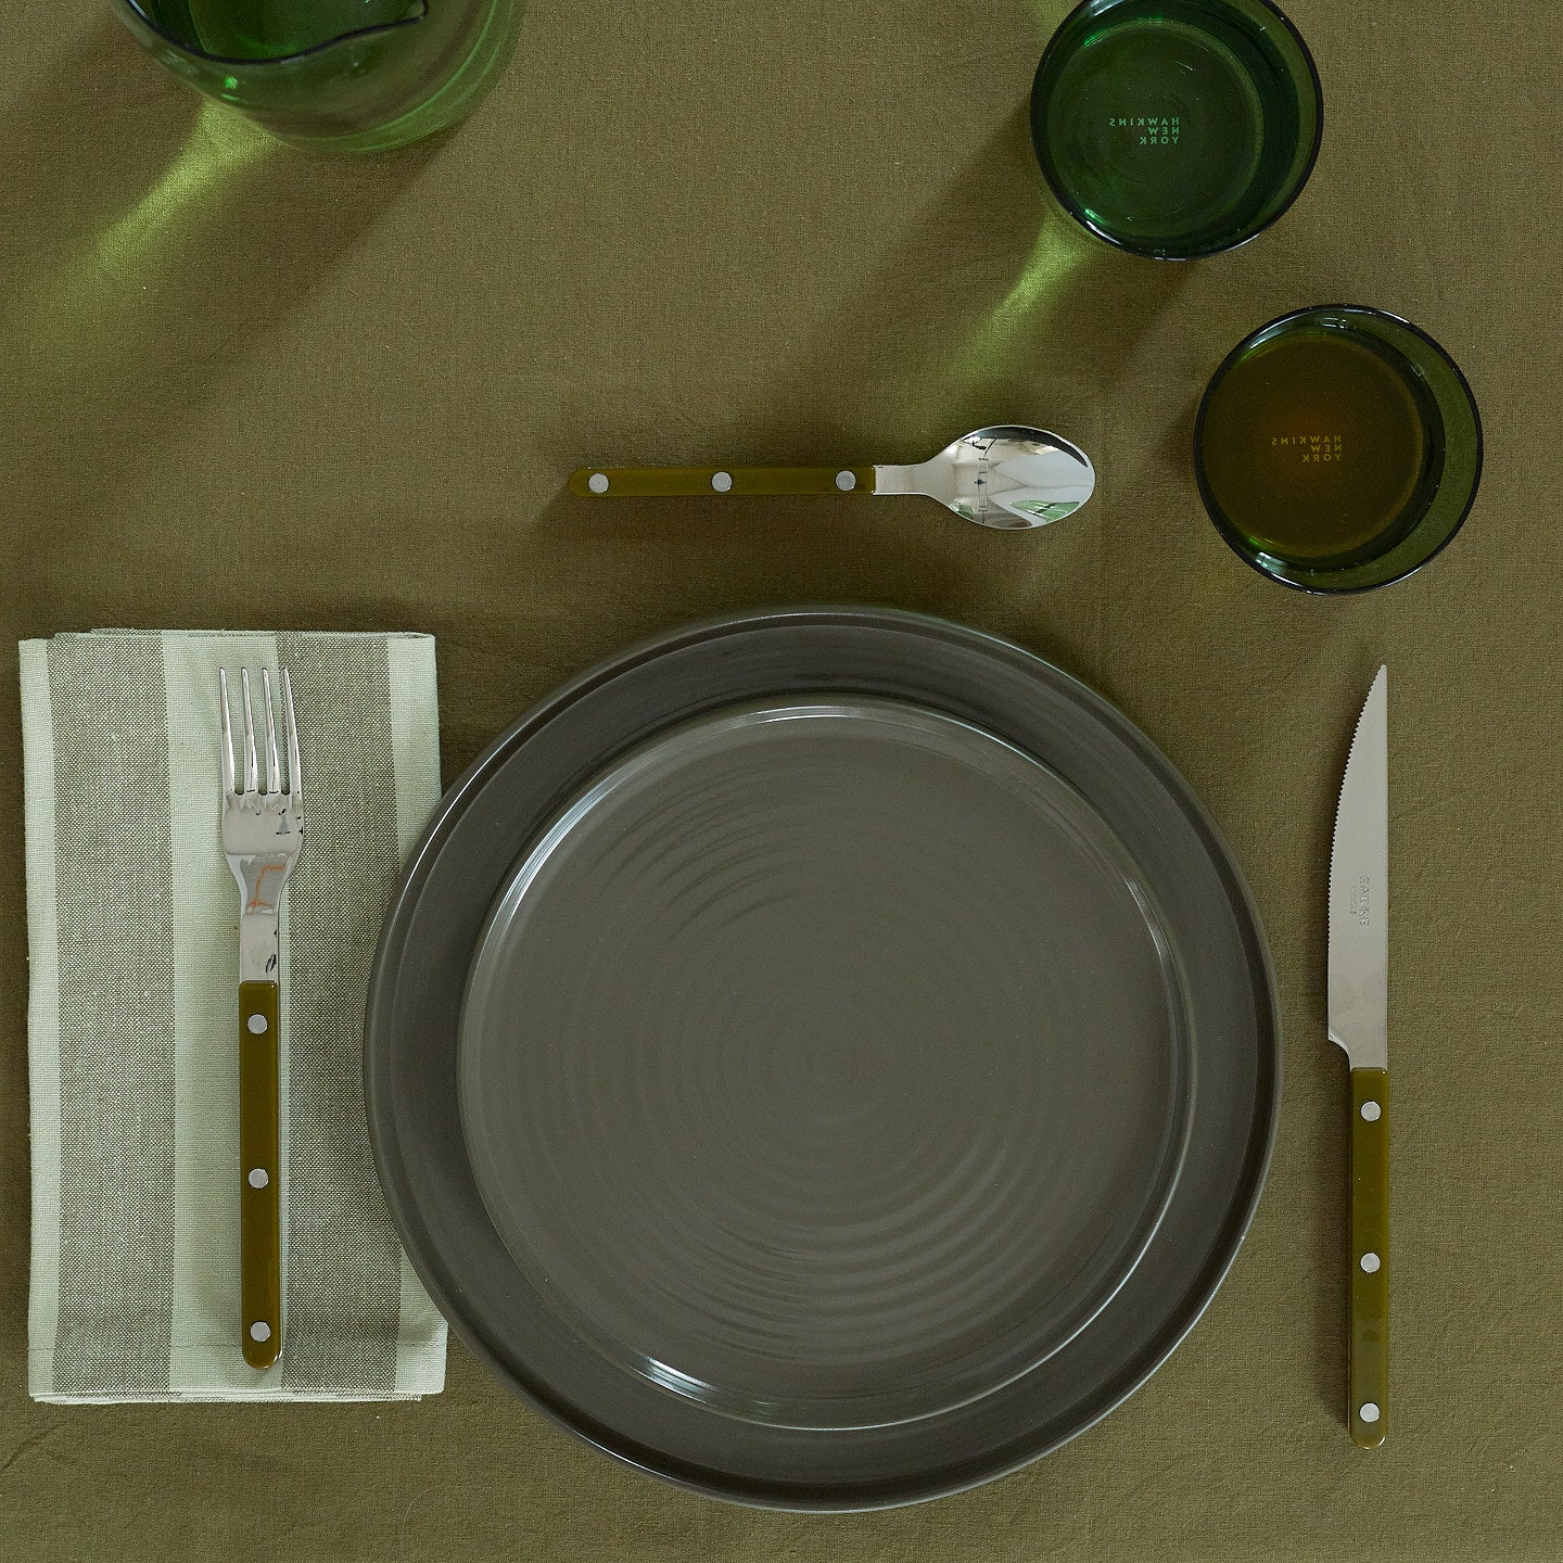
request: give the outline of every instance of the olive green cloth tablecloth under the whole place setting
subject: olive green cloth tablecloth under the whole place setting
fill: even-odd
[[[1024,103],[1063,0],[535,0],[450,139],[274,147],[92,5],[0,64],[0,1558],[1563,1555],[1563,658],[1550,0],[1296,0],[1325,144],[1249,249],[1075,241]],[[1239,334],[1422,324],[1486,417],[1455,545],[1288,594],[1204,520],[1194,403]],[[578,461],[905,461],[983,422],[1094,456],[1080,517],[927,502],[592,505]],[[530,700],[714,610],[872,600],[1010,635],[1208,800],[1274,942],[1286,1096],[1224,1289],[1125,1407],[921,1508],[722,1507],[545,1425],[452,1343],[410,1407],[55,1408],[25,1391],[16,641],[289,625],[439,638],[445,778]],[[1343,1060],[1324,891],[1350,719],[1391,669],[1394,1430],[1343,1425]]]

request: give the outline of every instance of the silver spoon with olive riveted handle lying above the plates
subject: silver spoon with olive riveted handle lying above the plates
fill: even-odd
[[[1024,424],[977,428],[928,461],[907,467],[577,467],[570,492],[692,494],[924,494],[980,527],[1019,531],[1072,516],[1096,488],[1083,450]]]

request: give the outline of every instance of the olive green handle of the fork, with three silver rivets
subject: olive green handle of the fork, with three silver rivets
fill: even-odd
[[[283,1344],[277,993],[239,983],[239,1293],[252,1368],[270,1368]]]

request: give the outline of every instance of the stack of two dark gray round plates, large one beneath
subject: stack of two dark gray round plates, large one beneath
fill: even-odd
[[[788,1508],[974,1485],[1138,1388],[1277,1089],[1263,933],[1168,761],[882,611],[550,697],[447,794],[369,996],[375,1157],[458,1335],[610,1454]]]

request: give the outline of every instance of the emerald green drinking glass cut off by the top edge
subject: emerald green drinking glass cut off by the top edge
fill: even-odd
[[[1085,0],[1032,86],[1032,141],[1064,211],[1152,259],[1268,228],[1322,133],[1313,56],[1269,0]]]

